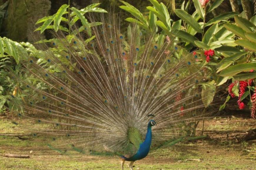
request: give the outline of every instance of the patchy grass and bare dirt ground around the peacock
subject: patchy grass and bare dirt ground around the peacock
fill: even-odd
[[[0,134],[22,134],[12,118],[0,119]],[[197,133],[201,133],[200,124]],[[193,142],[181,142],[172,147],[151,151],[135,162],[134,169],[256,169],[256,140],[238,142],[247,130],[254,129],[256,121],[239,116],[205,121],[204,135]],[[154,133],[154,132],[153,132]],[[0,157],[0,169],[120,169],[116,157],[102,157],[69,153],[60,155],[44,150],[40,138],[22,140],[14,136],[0,136],[0,155],[28,154],[29,159]],[[30,153],[30,151],[33,151]],[[189,161],[187,159],[200,159]],[[125,169],[128,169],[125,166]]]

